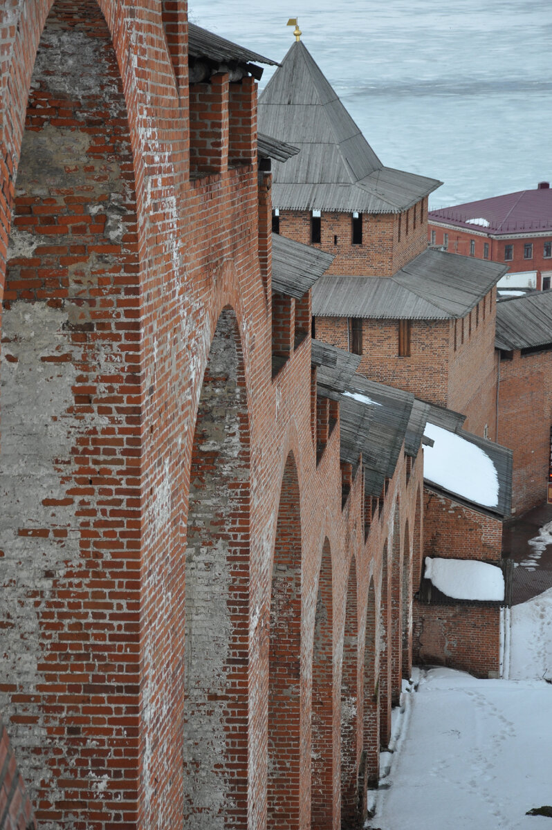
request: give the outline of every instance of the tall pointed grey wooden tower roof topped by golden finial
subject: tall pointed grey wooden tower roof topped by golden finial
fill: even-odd
[[[274,207],[396,213],[441,184],[383,166],[302,41],[263,90],[259,125],[300,148],[286,168],[275,165]]]

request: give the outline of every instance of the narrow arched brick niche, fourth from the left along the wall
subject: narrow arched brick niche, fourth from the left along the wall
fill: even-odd
[[[310,827],[332,830],[334,803],[334,604],[330,542],[322,549],[312,652]]]

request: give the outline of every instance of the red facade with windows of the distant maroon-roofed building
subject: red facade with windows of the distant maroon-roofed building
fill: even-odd
[[[504,262],[514,273],[516,271],[537,271],[537,288],[540,290],[541,285],[541,271],[552,271],[552,258],[544,256],[545,242],[552,242],[552,233],[548,236],[532,237],[528,233],[523,238],[515,237],[501,237],[500,239],[491,239],[486,235],[471,233],[456,227],[442,227],[441,225],[432,224],[427,225],[427,240],[431,241],[431,232],[435,231],[435,244],[443,244],[443,235],[448,234],[448,250],[453,253],[470,256],[470,242],[475,242],[475,254],[478,259],[484,258],[484,245],[489,246],[490,260],[496,262]],[[525,243],[532,243],[533,256],[530,259],[524,257]],[[504,247],[506,245],[513,245],[513,259],[506,260],[504,258]]]

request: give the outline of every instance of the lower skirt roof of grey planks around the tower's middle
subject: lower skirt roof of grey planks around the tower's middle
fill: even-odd
[[[392,277],[330,276],[318,281],[312,313],[374,320],[454,320],[496,285],[507,266],[427,248]]]

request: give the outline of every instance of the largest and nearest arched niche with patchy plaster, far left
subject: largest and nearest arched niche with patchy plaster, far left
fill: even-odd
[[[107,826],[139,780],[141,369],[129,120],[96,0],[51,5],[28,99],[12,93],[27,111],[2,310],[0,708],[44,825]]]

